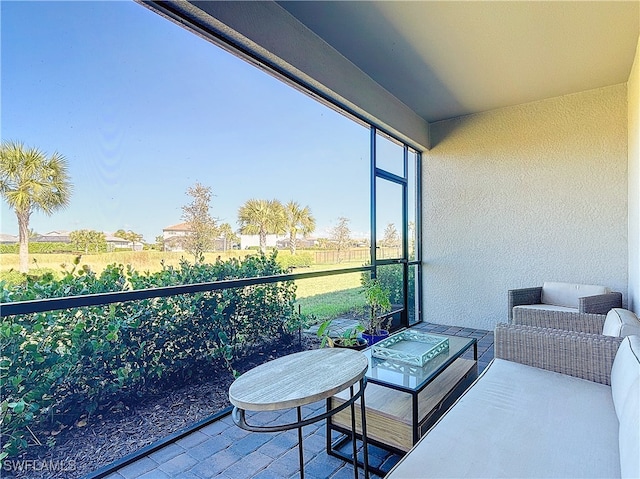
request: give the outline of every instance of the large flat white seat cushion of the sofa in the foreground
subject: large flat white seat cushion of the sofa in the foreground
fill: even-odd
[[[387,478],[619,476],[609,386],[494,359]]]

